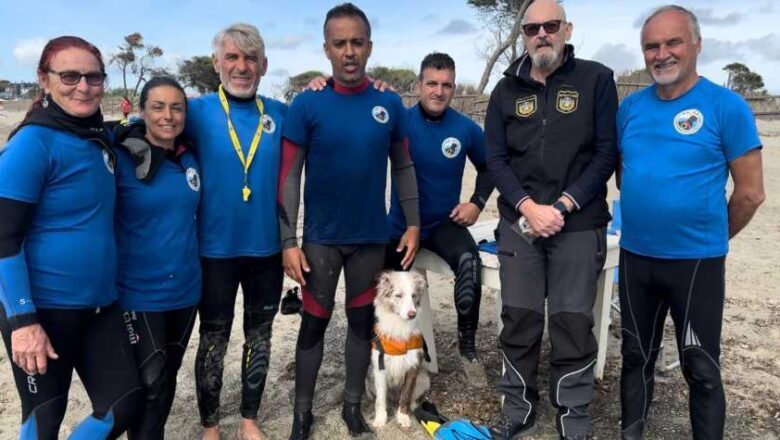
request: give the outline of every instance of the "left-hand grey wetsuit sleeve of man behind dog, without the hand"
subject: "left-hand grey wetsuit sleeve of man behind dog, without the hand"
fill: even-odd
[[[282,163],[279,167],[277,196],[282,249],[298,246],[298,207],[301,201],[301,174],[305,160],[306,149],[287,138],[282,140]]]

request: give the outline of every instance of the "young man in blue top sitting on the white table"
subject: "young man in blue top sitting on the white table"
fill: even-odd
[[[407,111],[409,151],[420,196],[421,245],[444,258],[455,273],[454,301],[458,315],[458,351],[469,383],[487,386],[479,365],[475,335],[482,297],[479,251],[466,227],[485,207],[493,184],[485,165],[482,129],[450,108],[455,93],[455,62],[443,53],[426,56],[420,65],[420,102]],[[460,203],[466,158],[477,169],[474,193]],[[395,189],[395,188],[394,188]],[[398,241],[406,221],[394,190],[385,266],[401,269]]]

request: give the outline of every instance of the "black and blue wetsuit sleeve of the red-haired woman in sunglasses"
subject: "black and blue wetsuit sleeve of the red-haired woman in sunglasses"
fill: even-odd
[[[0,197],[0,302],[11,330],[38,322],[22,243],[35,205]]]

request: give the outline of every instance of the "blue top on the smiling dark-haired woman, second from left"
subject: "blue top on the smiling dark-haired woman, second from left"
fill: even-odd
[[[152,147],[158,148],[158,147]],[[200,170],[190,152],[161,161],[148,183],[124,148],[117,155],[117,290],[125,310],[160,312],[200,299],[196,213]]]

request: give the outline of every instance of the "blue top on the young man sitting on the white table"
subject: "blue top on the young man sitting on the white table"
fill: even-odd
[[[421,239],[425,240],[460,203],[466,157],[477,168],[485,166],[485,139],[474,121],[452,108],[444,112],[441,120],[430,121],[417,104],[407,111],[407,124],[409,152],[420,195]],[[388,222],[393,239],[400,238],[406,231],[406,219],[395,186]]]

